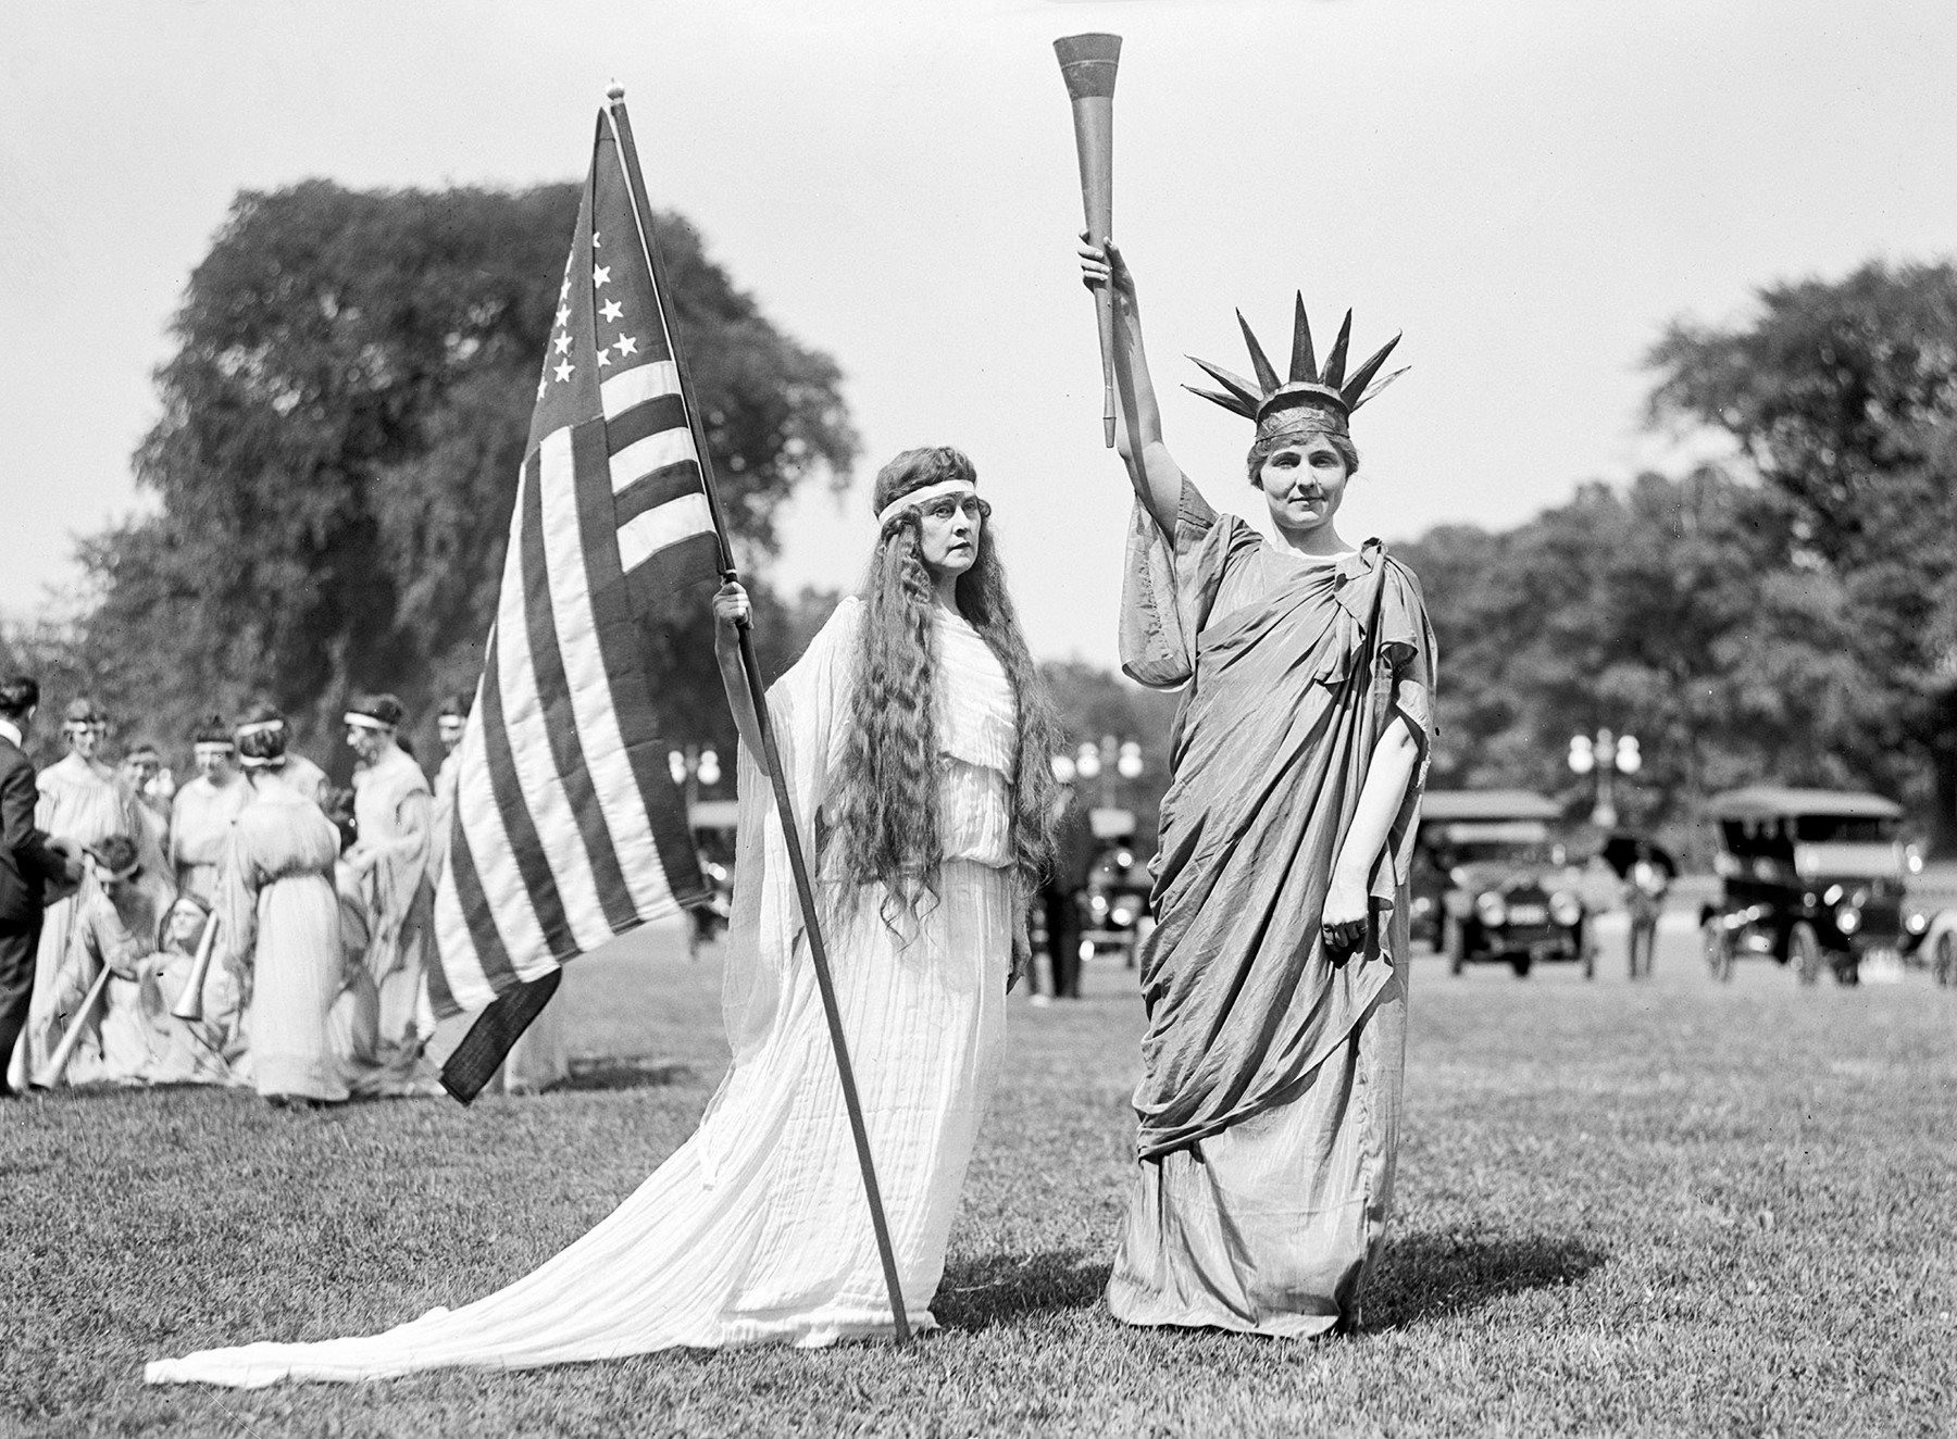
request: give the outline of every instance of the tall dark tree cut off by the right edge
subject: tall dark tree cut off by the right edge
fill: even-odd
[[[1957,839],[1957,268],[1769,285],[1750,325],[1673,325],[1654,420],[1726,432],[1787,516],[1783,563],[1840,604],[1867,686],[1826,741]]]

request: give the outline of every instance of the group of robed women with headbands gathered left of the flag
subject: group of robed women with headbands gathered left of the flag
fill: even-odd
[[[442,706],[444,749],[466,712],[462,696]],[[211,716],[176,786],[151,743],[112,763],[110,716],[70,700],[35,827],[84,854],[86,874],[47,907],[10,1085],[237,1085],[296,1107],[438,1093],[419,995],[454,766],[431,786],[401,720],[389,694],[346,710],[348,792],[290,747],[276,706]],[[211,925],[200,1003],[186,1005]],[[564,1075],[556,1017],[538,1021],[505,1085]]]

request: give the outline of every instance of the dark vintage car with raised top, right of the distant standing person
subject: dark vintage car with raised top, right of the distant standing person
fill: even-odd
[[[1902,888],[1902,809],[1877,794],[1752,786],[1712,796],[1718,901],[1699,913],[1707,966],[1730,980],[1734,962],[1767,954],[1800,983],[1832,970],[1861,980],[1865,958],[1900,964],[1908,925]]]

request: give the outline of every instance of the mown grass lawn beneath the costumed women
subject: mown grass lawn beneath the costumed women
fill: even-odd
[[[1100,1290],[1129,1171],[1131,976],[1016,1001],[908,1351],[667,1353],[250,1394],[145,1359],[380,1330],[577,1238],[691,1132],[718,966],[569,972],[579,1087],[321,1114],[250,1095],[0,1105],[0,1433],[1957,1431],[1957,993],[1413,966],[1393,1234],[1356,1339],[1135,1331]]]

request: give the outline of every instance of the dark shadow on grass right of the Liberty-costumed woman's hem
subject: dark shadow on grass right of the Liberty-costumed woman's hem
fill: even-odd
[[[1403,1330],[1464,1314],[1505,1294],[1562,1288],[1609,1257],[1556,1234],[1521,1240],[1409,1234],[1386,1245],[1380,1269],[1366,1285],[1366,1328]]]

